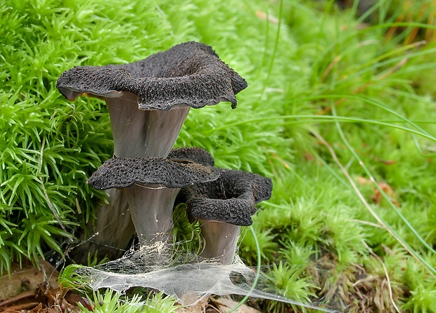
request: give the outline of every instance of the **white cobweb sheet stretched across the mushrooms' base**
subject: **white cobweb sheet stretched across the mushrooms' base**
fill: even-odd
[[[98,267],[80,267],[77,274],[88,281],[89,286],[110,288],[124,293],[132,287],[152,288],[172,295],[181,305],[195,305],[209,295],[250,295],[252,298],[276,300],[292,305],[318,309],[321,312],[338,312],[283,298],[256,287],[255,272],[236,257],[230,265],[188,255],[171,262],[159,262],[168,258],[172,244],[158,242],[141,246],[122,258],[106,262]],[[190,260],[186,263],[186,260]],[[250,290],[252,289],[252,290]]]

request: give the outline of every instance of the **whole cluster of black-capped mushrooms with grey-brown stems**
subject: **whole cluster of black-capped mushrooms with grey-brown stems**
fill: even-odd
[[[172,147],[191,107],[225,101],[236,108],[245,79],[210,46],[190,41],[134,63],[74,67],[56,86],[68,100],[86,95],[108,106],[114,156],[88,180],[109,195],[96,217],[108,233],[99,244],[125,248],[134,232],[141,246],[167,241],[177,198],[201,221],[202,256],[232,262],[239,227],[251,225],[255,204],[269,199],[271,180],[214,168],[203,149]],[[121,226],[108,227],[108,216]]]

